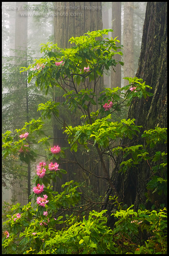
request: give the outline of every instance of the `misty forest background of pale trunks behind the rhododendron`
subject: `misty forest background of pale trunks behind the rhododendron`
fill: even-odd
[[[38,104],[49,100],[62,101],[62,94],[52,89],[45,95],[36,88],[35,83],[26,80],[26,74],[19,74],[19,67],[27,67],[34,59],[42,56],[40,44],[53,42],[58,47],[70,47],[68,40],[88,31],[112,28],[108,37],[117,37],[123,45],[123,56],[117,54],[124,66],[115,67],[116,73],[104,74],[100,81],[104,88],[122,88],[125,76],[134,77],[138,69],[142,32],[147,2],[2,2],[2,132],[14,133],[25,122],[40,117]],[[64,8],[63,8],[64,7]],[[71,16],[66,13],[71,12]],[[21,14],[25,13],[25,14]],[[104,86],[103,86],[104,85]],[[117,121],[126,118],[128,107],[116,116]],[[50,135],[50,146],[69,147],[63,135],[64,123],[75,125],[76,116],[69,115],[68,109],[60,109],[62,123],[54,118],[46,121],[46,134]],[[80,119],[80,118],[79,118]],[[34,145],[39,156],[37,162],[28,165],[19,161],[17,155],[10,155],[2,162],[2,201],[29,202],[32,192],[31,180],[36,173],[39,161],[45,161],[45,150]],[[101,176],[100,162],[93,155],[83,154],[80,150],[73,155],[68,152],[62,163],[67,170],[63,180],[53,184],[61,191],[61,185],[70,180],[83,182],[82,192],[90,200],[104,197],[107,182],[96,178],[84,169]],[[80,164],[77,165],[76,159]],[[94,161],[93,161],[94,159]],[[111,175],[113,162],[107,158]],[[83,168],[81,168],[83,167]],[[98,210],[99,206],[95,209]]]

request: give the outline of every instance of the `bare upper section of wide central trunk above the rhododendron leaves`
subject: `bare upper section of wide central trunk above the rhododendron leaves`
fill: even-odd
[[[58,47],[70,47],[72,36],[102,29],[101,2],[55,2],[55,11],[54,36]]]

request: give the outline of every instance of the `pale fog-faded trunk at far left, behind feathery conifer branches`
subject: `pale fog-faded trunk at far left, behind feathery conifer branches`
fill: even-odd
[[[28,2],[16,2],[16,17],[15,17],[15,66],[23,65],[26,60],[27,51],[27,16],[21,13],[27,12],[24,6]],[[28,121],[28,98],[27,98],[27,82],[24,81],[25,74],[16,74],[16,81],[18,81],[14,93],[18,94],[18,117],[15,118],[14,127],[20,128]],[[26,95],[26,96],[25,96]],[[22,183],[22,184],[21,184]],[[24,189],[23,189],[24,188]],[[27,189],[25,189],[27,188]],[[16,196],[16,202],[24,205],[29,202],[28,196],[31,194],[31,163],[27,165],[27,177],[22,177],[22,180],[13,181],[13,195]],[[27,196],[26,196],[27,195]],[[26,199],[27,197],[27,199]]]

